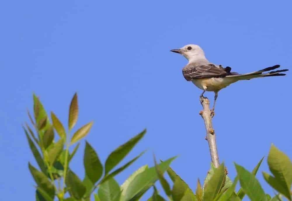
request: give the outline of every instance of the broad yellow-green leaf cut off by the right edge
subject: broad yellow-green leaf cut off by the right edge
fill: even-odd
[[[277,149],[273,144],[268,155],[268,165],[277,183],[282,186],[282,192],[288,200],[291,200],[290,188],[292,184],[292,163],[286,154]],[[275,188],[272,183],[269,183]],[[277,186],[279,188],[279,186]],[[275,188],[276,189],[276,188]],[[277,190],[277,189],[276,189]]]

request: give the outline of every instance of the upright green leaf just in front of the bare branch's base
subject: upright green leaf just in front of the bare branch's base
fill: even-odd
[[[214,200],[220,190],[223,188],[226,179],[224,170],[224,163],[219,165],[218,168],[214,169],[214,174],[205,184],[203,193],[203,200]]]

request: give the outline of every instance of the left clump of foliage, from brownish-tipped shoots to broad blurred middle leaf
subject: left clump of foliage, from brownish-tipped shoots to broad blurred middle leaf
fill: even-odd
[[[89,133],[93,122],[77,129],[70,137],[79,113],[77,94],[74,94],[69,106],[67,132],[55,113],[51,112],[50,122],[39,98],[33,95],[33,100],[34,118],[29,111],[28,116],[35,132],[27,123],[23,129],[40,169],[38,170],[28,163],[29,171],[36,182],[37,201],[53,201],[55,198],[61,201],[89,201],[94,192],[94,199],[98,201],[138,200],[158,180],[156,167],[148,168],[147,165],[136,170],[121,186],[114,180],[115,175],[145,153],[142,151],[129,162],[114,169],[142,139],[146,130],[112,151],[104,165],[99,160],[95,149],[86,141],[83,158],[85,177],[80,179],[69,164],[78,151],[80,140]],[[57,132],[57,136],[55,132]],[[70,152],[69,148],[75,143],[77,145]],[[173,159],[170,158],[156,165],[161,169],[161,174],[168,169]]]

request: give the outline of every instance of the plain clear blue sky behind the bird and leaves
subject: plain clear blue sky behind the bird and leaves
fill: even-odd
[[[70,100],[79,95],[79,120],[93,120],[86,136],[105,162],[120,144],[147,134],[120,164],[148,148],[115,178],[167,159],[194,189],[210,167],[201,90],[187,82],[187,63],[169,52],[198,44],[208,60],[245,73],[281,64],[291,69],[291,1],[1,1],[1,200],[34,200],[27,162],[32,156],[21,125],[32,93],[67,125]],[[271,143],[292,158],[291,72],[240,81],[219,92],[213,118],[220,162],[248,170]],[[213,93],[205,95],[213,102]],[[84,140],[70,167],[84,176]],[[273,194],[261,171],[257,178]],[[161,187],[157,185],[161,190]],[[150,190],[142,200],[151,195]]]

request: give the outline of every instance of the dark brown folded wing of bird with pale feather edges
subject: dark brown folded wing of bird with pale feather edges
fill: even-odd
[[[225,77],[230,74],[230,67],[225,69],[214,64],[187,64],[183,68],[183,76],[187,81],[201,78]]]

